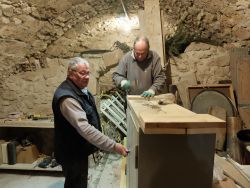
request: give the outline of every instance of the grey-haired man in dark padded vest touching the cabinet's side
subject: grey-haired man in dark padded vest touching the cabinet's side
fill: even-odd
[[[94,97],[88,91],[89,64],[69,61],[67,79],[55,91],[55,157],[62,165],[65,188],[87,188],[88,156],[96,148],[127,156],[127,149],[101,133]]]

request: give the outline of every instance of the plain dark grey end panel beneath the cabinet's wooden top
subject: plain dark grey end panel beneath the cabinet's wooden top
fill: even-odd
[[[138,188],[211,188],[215,134],[139,133]]]

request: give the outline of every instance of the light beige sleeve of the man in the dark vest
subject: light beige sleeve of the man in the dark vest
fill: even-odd
[[[116,142],[88,123],[85,111],[75,99],[65,98],[62,100],[60,110],[67,121],[89,143],[102,150],[114,152]]]

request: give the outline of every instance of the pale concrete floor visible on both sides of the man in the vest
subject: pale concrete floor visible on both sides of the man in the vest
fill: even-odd
[[[89,160],[88,188],[119,188],[122,158],[104,154],[99,164]],[[63,188],[61,173],[37,171],[0,171],[1,188]]]

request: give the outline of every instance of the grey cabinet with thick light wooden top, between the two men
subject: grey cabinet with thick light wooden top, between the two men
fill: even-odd
[[[127,187],[211,188],[215,133],[225,122],[157,97],[127,99]]]

